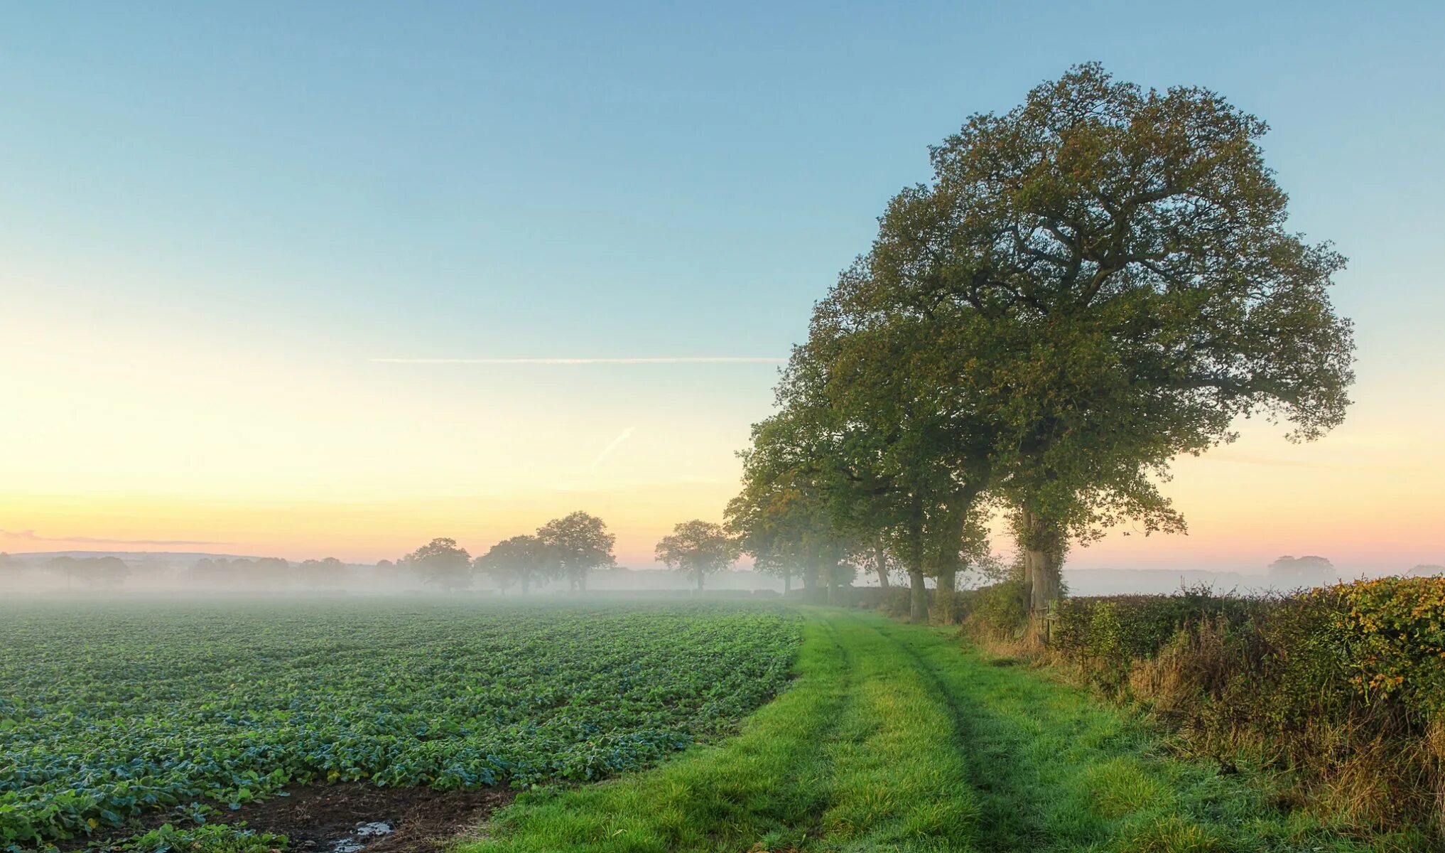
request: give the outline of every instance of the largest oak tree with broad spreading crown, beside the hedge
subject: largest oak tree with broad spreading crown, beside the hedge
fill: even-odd
[[[1182,529],[1156,487],[1175,455],[1241,416],[1295,440],[1344,418],[1344,259],[1286,227],[1264,132],[1208,90],[1084,65],[971,117],[880,220],[853,309],[925,324],[987,415],[1035,609],[1071,539],[1126,518]]]

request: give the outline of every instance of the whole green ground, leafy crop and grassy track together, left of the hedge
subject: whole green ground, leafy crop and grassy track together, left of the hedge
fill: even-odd
[[[0,619],[9,852],[1438,849],[1292,807],[1272,772],[1191,758],[1137,710],[957,627],[863,610],[434,599]],[[337,844],[381,818],[394,834]]]

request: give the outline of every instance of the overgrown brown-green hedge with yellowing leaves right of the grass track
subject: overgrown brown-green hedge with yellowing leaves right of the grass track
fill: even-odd
[[[1072,599],[1051,653],[1198,749],[1272,756],[1357,824],[1442,817],[1445,578]]]

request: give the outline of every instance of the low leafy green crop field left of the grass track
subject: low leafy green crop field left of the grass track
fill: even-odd
[[[296,785],[642,768],[776,694],[799,636],[780,609],[727,604],[4,607],[0,849]]]

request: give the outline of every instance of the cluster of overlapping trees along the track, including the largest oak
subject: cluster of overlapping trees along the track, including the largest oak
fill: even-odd
[[[1185,529],[1173,457],[1251,415],[1295,441],[1338,425],[1345,262],[1286,227],[1264,132],[1084,65],[933,146],[753,428],[727,522],[757,568],[832,590],[896,564],[922,620],[925,578],[946,599],[1003,519],[1040,612],[1071,545]]]

